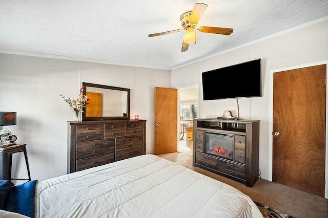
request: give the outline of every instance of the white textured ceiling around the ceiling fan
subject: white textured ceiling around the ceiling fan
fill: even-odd
[[[200,2],[0,0],[0,52],[171,70],[328,16],[327,0],[209,0],[197,27],[233,28],[231,35],[196,31],[187,52],[185,31],[148,37],[182,29],[180,15]]]

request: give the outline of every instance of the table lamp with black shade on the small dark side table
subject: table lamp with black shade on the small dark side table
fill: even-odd
[[[0,145],[15,144],[17,137],[3,126],[16,125],[16,112],[0,112]]]

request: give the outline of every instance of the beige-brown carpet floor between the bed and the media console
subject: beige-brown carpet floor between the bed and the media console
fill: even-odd
[[[158,156],[227,183],[249,195],[253,201],[273,207],[296,218],[328,218],[328,199],[318,195],[264,179],[258,179],[250,188],[216,173],[194,167],[192,157],[189,155],[174,152]]]

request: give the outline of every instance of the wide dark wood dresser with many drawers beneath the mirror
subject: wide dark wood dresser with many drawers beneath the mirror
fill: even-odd
[[[68,173],[146,154],[146,120],[68,122]]]

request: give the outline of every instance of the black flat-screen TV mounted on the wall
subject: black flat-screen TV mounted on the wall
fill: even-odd
[[[203,100],[261,97],[261,59],[202,73]]]

